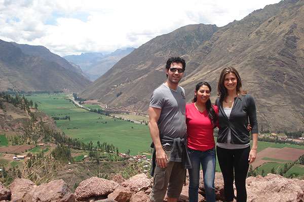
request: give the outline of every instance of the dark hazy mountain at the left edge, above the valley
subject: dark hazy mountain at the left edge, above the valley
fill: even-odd
[[[90,84],[74,67],[64,63],[65,60],[60,60],[59,56],[48,53],[45,47],[34,46],[31,49],[28,45],[21,45],[23,50],[26,49],[26,54],[19,45],[0,40],[0,91],[9,88],[24,91],[81,91]]]

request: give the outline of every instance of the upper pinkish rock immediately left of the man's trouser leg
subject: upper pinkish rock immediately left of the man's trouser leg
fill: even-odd
[[[138,174],[124,181],[121,185],[128,186],[131,191],[138,192],[148,189],[151,186],[151,179],[148,179],[145,174]]]

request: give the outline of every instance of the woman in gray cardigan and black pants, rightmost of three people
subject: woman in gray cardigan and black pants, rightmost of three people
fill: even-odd
[[[237,70],[224,68],[217,86],[219,97],[215,101],[219,121],[216,151],[224,178],[225,200],[233,201],[235,180],[238,202],[247,200],[246,176],[249,164],[256,158],[258,133],[254,99],[241,88]],[[252,148],[248,124],[252,127]]]

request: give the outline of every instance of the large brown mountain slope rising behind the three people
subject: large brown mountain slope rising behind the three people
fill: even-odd
[[[145,112],[151,91],[166,79],[166,60],[182,56],[187,65],[180,85],[188,102],[202,80],[210,82],[214,100],[220,71],[232,66],[243,88],[255,97],[260,129],[303,130],[302,19],[304,1],[285,0],[223,27],[181,27],[141,45],[79,95],[98,98],[109,107]]]

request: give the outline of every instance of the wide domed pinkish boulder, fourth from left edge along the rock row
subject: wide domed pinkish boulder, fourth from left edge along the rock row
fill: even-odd
[[[77,200],[89,198],[91,196],[108,195],[113,192],[119,184],[112,180],[106,180],[98,177],[91,177],[82,181],[75,190]]]

